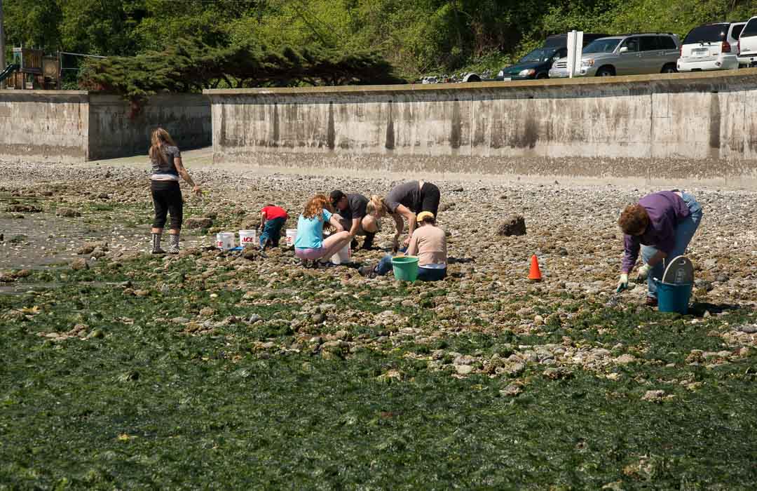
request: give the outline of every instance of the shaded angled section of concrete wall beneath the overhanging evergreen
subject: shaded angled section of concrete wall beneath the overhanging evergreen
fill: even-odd
[[[89,94],[89,160],[144,155],[156,127],[180,149],[210,145],[210,102],[203,95],[154,95],[139,115],[131,112],[117,95]]]

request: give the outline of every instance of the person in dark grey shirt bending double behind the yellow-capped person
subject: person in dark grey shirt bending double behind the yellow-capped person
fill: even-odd
[[[407,220],[409,228],[407,239],[403,242],[403,245],[407,247],[413,231],[416,230],[416,215],[421,211],[428,211],[437,218],[439,199],[439,188],[431,183],[408,181],[394,186],[394,189],[386,196],[389,213],[392,214],[394,223],[397,225],[397,233],[394,234],[394,250],[399,247],[399,239],[405,227],[402,219]]]

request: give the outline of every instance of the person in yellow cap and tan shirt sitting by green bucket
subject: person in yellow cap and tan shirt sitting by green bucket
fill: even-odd
[[[444,280],[447,277],[447,236],[436,226],[436,218],[430,211],[421,211],[416,221],[418,227],[403,252],[418,256],[418,280]],[[391,255],[385,255],[374,267],[363,266],[359,271],[364,277],[372,278],[387,274],[391,269]]]

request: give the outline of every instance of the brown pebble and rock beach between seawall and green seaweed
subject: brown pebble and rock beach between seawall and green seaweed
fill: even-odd
[[[243,289],[248,291],[248,298],[261,296],[258,302],[276,302],[266,299],[265,291],[283,287],[296,292],[288,284],[291,280],[310,280],[308,288],[316,290],[317,302],[298,296],[282,301],[298,312],[291,321],[291,327],[299,333],[298,342],[314,342],[316,347],[322,342],[336,342],[345,349],[370,346],[375,339],[351,339],[345,332],[350,325],[379,323],[393,326],[397,336],[411,336],[422,342],[460,330],[490,331],[495,336],[502,330],[537,333],[544,324],[559,324],[575,315],[561,308],[563,304],[578,301],[584,303],[585,309],[606,305],[637,309],[644,299],[646,285],[633,283],[631,291],[613,295],[622,255],[622,236],[615,223],[621,208],[655,189],[562,184],[559,180],[529,183],[518,178],[497,183],[483,179],[436,180],[442,195],[439,224],[448,236],[450,277],[442,283],[416,283],[410,287],[410,296],[382,299],[379,305],[385,311],[370,314],[350,309],[330,311],[326,299],[349,296],[350,289],[366,284],[390,286],[394,282],[391,275],[366,280],[357,274],[357,266],[377,261],[385,254],[383,251],[360,251],[354,254],[354,264],[350,266],[313,271],[304,270],[291,249],[283,245],[267,258],[257,252],[221,253],[210,246],[218,231],[255,227],[257,211],[268,202],[288,209],[292,218],[288,227],[294,227],[294,217],[315,192],[328,194],[332,189],[342,189],[366,195],[385,194],[396,180],[272,174],[233,166],[192,170],[190,164],[189,168],[204,194],[201,198],[189,197],[188,189],[184,189],[185,220],[191,223],[210,218],[212,226],[206,223],[204,229],[185,228],[181,257],[195,258],[197,279],[204,288]],[[67,263],[76,258],[90,264],[101,258],[128,261],[148,251],[151,201],[146,165],[4,164],[0,186],[5,201],[0,264],[9,271]],[[687,191],[704,208],[702,225],[689,251],[696,267],[693,297],[699,302],[699,314],[753,308],[757,302],[757,214],[753,212],[757,193],[701,186]],[[24,208],[30,200],[39,212],[24,211],[31,209]],[[526,234],[500,236],[500,224],[512,214],[525,218]],[[391,221],[384,220],[378,245],[389,247],[392,228]],[[540,283],[527,279],[533,254],[544,275]],[[171,261],[174,258],[154,259],[165,267]],[[229,268],[231,274],[221,273]],[[8,272],[5,278],[5,288],[14,289],[13,275]],[[251,280],[260,278],[267,281],[256,292],[250,286]],[[444,295],[433,294],[440,288]],[[431,307],[438,314],[438,322],[410,326],[406,317],[391,310],[395,305]],[[544,308],[552,313],[539,314]],[[179,321],[188,324],[190,330],[211,330],[210,317],[200,315],[196,320]],[[752,334],[742,334],[748,338],[740,339],[742,345],[754,343]],[[262,349],[278,348],[269,343]],[[524,347],[516,350],[517,359],[511,361],[517,364],[544,359],[547,364],[573,364],[575,360],[583,363],[592,353],[592,349],[581,353],[575,346],[567,351],[565,346],[556,345],[542,350],[549,353],[547,358],[544,353],[537,355],[536,348]],[[600,352],[603,362],[617,361],[606,350]],[[473,368],[468,367],[472,366],[487,370],[491,363],[484,359],[457,359],[458,355],[453,353],[452,361],[456,367],[464,366],[459,374],[469,374]]]

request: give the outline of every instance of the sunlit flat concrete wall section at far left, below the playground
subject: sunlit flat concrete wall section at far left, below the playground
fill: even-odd
[[[0,159],[85,161],[87,92],[0,90]]]

